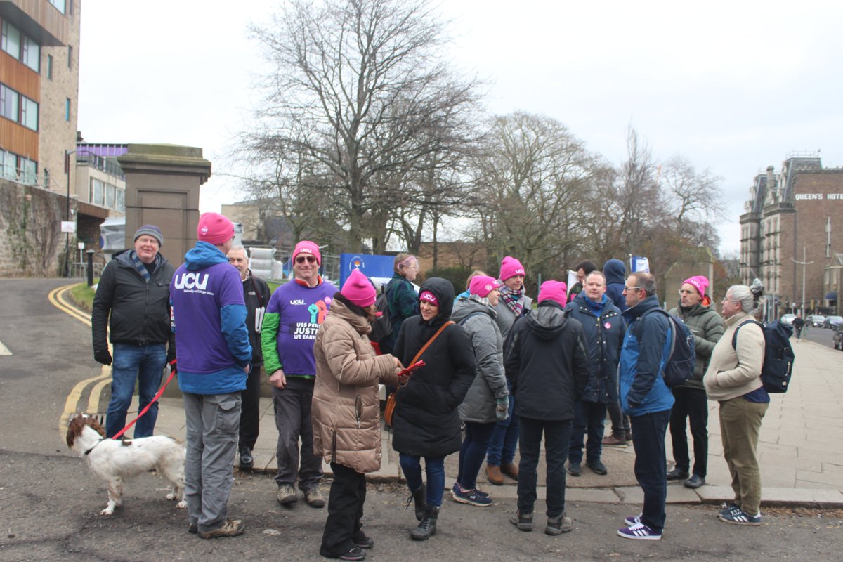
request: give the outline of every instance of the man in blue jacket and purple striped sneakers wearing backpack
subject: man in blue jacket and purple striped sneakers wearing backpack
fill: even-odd
[[[658,313],[656,280],[649,273],[632,273],[623,289],[626,336],[620,350],[618,377],[620,406],[630,416],[635,441],[635,475],[644,491],[644,507],[627,517],[618,529],[623,538],[658,540],[664,527],[668,495],[664,436],[674,395],[664,383],[662,369],[670,352],[670,324]]]

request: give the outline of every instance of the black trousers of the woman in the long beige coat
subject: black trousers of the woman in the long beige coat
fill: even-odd
[[[354,548],[362,533],[363,502],[366,501],[366,475],[340,463],[330,463],[334,482],[330,484],[328,520],[322,533],[319,554],[339,556]]]

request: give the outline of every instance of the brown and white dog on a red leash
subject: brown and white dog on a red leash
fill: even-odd
[[[153,468],[172,484],[168,500],[179,500],[185,508],[185,447],[172,437],[151,436],[115,441],[105,439],[105,431],[93,417],[77,414],[67,427],[67,447],[84,458],[94,474],[105,480],[108,506],[99,515],[114,514],[123,503],[123,479]]]

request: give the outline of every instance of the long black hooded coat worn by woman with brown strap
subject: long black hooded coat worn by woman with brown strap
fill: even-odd
[[[430,291],[439,301],[439,315],[425,322],[412,316],[401,324],[393,355],[410,365],[421,347],[444,324],[454,306],[454,286],[431,277],[421,292]],[[413,372],[410,382],[395,394],[392,447],[414,457],[444,457],[462,445],[457,407],[475,377],[471,341],[457,324],[445,328],[421,356],[425,366]]]

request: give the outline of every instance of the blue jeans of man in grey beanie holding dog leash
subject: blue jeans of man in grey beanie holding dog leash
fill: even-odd
[[[161,386],[161,375],[167,358],[165,344],[114,344],[114,362],[111,365],[111,401],[105,417],[105,436],[115,436],[126,426],[126,412],[132,405],[132,394],[139,396],[137,411],[149,404]],[[158,402],[137,420],[135,437],[153,434],[158,418]]]

